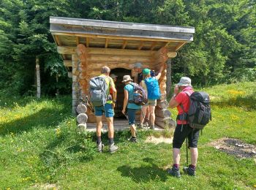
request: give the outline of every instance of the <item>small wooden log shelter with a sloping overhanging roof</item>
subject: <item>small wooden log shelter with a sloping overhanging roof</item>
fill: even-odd
[[[118,76],[116,116],[121,117],[124,99],[124,75],[135,77],[134,64],[155,72],[164,66],[159,86],[162,97],[157,101],[156,124],[163,126],[166,108],[166,88],[170,86],[170,69],[167,63],[177,51],[193,41],[195,28],[164,26],[144,23],[124,23],[106,20],[50,17],[50,32],[56,42],[64,66],[72,77],[72,112],[80,98],[89,96],[89,80],[100,75],[102,66],[109,66]],[[169,59],[169,61],[167,61]],[[90,109],[87,122],[96,122]]]

